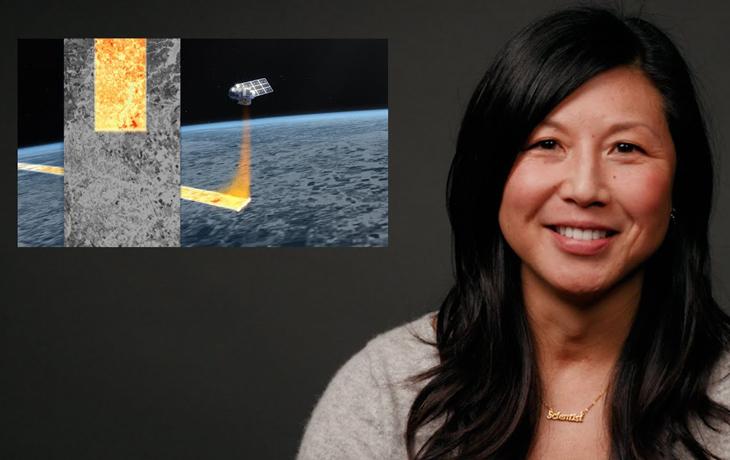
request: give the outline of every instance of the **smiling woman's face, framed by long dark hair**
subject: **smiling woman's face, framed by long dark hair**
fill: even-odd
[[[675,164],[641,71],[586,82],[530,134],[504,187],[499,224],[523,276],[593,296],[634,273],[666,234]]]

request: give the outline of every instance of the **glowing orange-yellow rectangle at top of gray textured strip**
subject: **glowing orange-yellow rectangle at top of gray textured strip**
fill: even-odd
[[[94,128],[147,130],[147,40],[94,40]]]

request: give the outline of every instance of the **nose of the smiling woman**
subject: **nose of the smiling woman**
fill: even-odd
[[[564,163],[565,171],[558,190],[560,198],[581,207],[606,205],[610,192],[601,157],[594,149],[572,152],[570,161]]]

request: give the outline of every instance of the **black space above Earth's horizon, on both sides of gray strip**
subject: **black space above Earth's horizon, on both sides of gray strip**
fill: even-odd
[[[388,41],[181,41],[181,123],[233,120],[235,83],[266,78],[251,117],[385,108]],[[18,40],[18,146],[63,140],[63,40]]]

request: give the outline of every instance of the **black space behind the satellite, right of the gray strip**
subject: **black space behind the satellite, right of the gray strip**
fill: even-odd
[[[181,41],[183,125],[238,119],[235,83],[266,78],[274,92],[251,116],[385,108],[387,40]]]

